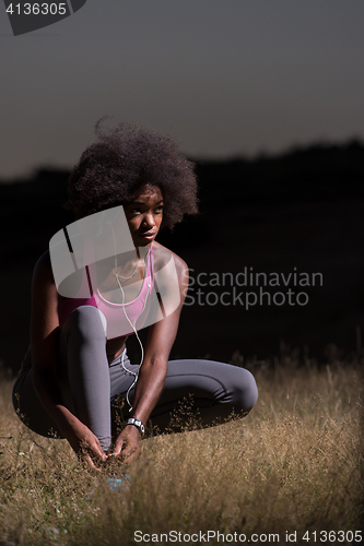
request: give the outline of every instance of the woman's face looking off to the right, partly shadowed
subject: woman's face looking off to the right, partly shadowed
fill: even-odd
[[[136,247],[148,247],[155,239],[163,219],[163,195],[157,186],[143,185],[134,199],[125,203],[125,214]]]

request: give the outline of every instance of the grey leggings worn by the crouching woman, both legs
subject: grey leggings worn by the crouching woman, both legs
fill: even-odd
[[[105,345],[104,316],[95,307],[79,307],[60,330],[58,379],[63,403],[95,434],[106,451],[111,443],[111,424],[117,420],[116,402],[126,397],[133,376],[122,368],[121,356],[108,363]],[[31,359],[28,352],[14,384],[14,408],[33,431],[61,437],[34,390]],[[126,355],[124,364],[138,371],[139,366],[131,365]],[[131,404],[133,391],[132,388],[129,393]],[[171,415],[190,395],[193,413],[202,426],[209,426],[226,419],[232,412],[247,414],[257,401],[258,390],[253,375],[244,368],[212,360],[171,360],[163,391],[151,414],[153,426],[165,431]],[[128,413],[125,403],[121,414],[125,417]]]

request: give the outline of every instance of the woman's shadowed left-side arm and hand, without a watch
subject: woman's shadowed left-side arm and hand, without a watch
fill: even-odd
[[[97,438],[62,403],[57,384],[58,351],[58,295],[55,285],[49,253],[37,261],[32,283],[31,345],[33,383],[36,393],[64,438],[79,453],[85,442],[89,450],[102,461],[106,455]],[[94,466],[89,454],[85,455]]]

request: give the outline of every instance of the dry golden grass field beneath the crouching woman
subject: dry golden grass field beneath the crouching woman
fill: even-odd
[[[122,477],[125,468],[94,475],[64,440],[28,431],[3,378],[0,545],[239,544],[243,534],[256,544],[289,544],[286,532],[291,542],[296,532],[295,544],[359,544],[363,365],[318,369],[291,356],[250,369],[259,400],[247,417],[145,439],[127,470],[131,483],[116,491],[107,477]]]

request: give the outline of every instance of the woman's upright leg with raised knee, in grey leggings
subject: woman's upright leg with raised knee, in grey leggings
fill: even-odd
[[[59,335],[58,379],[64,405],[98,438],[106,451],[110,432],[110,375],[106,355],[106,321],[91,306],[75,309]],[[32,357],[13,389],[13,404],[23,423],[38,435],[60,432],[43,407],[33,385]]]

